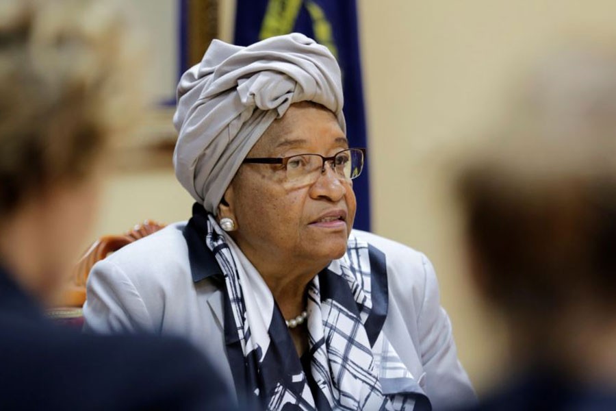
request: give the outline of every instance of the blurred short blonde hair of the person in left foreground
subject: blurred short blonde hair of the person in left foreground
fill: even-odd
[[[103,0],[0,2],[0,216],[89,175],[138,118],[141,46]]]

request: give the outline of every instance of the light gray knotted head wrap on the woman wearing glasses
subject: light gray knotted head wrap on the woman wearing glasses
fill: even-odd
[[[216,214],[248,151],[298,101],[324,105],[346,132],[340,69],[326,47],[297,33],[248,47],[212,41],[177,86],[177,179]]]

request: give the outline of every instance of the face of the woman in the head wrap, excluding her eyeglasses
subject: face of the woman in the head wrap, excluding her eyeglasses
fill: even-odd
[[[348,148],[335,115],[319,105],[296,103],[275,121],[248,158],[303,153],[331,156]],[[249,260],[326,266],[346,252],[355,219],[350,180],[331,167],[312,184],[290,184],[280,164],[242,164],[225,193],[219,217],[236,224],[231,235]]]

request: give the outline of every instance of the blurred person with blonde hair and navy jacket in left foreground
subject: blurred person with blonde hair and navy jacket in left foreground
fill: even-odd
[[[0,409],[232,408],[188,343],[43,314],[92,225],[107,140],[138,114],[128,22],[108,6],[0,3]]]

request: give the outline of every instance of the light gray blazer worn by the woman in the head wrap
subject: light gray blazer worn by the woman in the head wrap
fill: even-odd
[[[194,262],[186,223],[175,223],[98,262],[88,277],[86,332],[147,332],[188,338],[234,390],[224,343],[216,260]],[[355,236],[385,254],[389,308],[383,332],[436,410],[475,401],[458,358],[437,278],[422,253],[368,232]],[[195,266],[200,264],[200,266]]]

